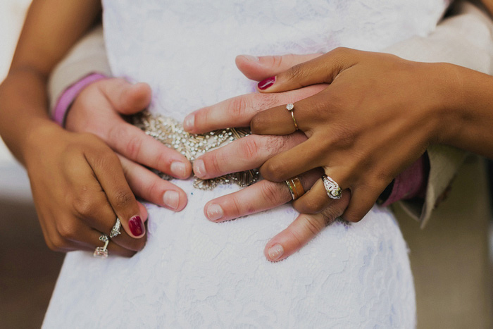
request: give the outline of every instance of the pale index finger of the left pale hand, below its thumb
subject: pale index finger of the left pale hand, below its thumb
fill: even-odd
[[[185,179],[192,173],[192,164],[185,156],[123,120],[108,130],[108,145],[127,159],[173,177]]]

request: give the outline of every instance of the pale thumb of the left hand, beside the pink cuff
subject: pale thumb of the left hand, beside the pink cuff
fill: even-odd
[[[101,81],[101,91],[113,109],[123,115],[140,112],[151,102],[151,87],[144,82],[132,85],[125,79],[113,77]]]

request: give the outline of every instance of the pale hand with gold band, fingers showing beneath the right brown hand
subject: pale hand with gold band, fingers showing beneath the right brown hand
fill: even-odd
[[[252,60],[250,56],[238,56],[237,66],[252,80],[263,80],[291,66],[320,56],[264,56]],[[311,86],[293,92],[279,94],[246,94],[228,99],[214,106],[201,108],[185,118],[185,129],[201,133],[227,127],[249,125],[256,113],[270,106],[287,104],[310,97],[324,89]],[[286,136],[250,135],[210,151],[194,161],[194,173],[199,178],[213,178],[226,173],[258,168],[270,157],[287,151],[304,142],[306,136],[300,132]],[[309,190],[322,173],[310,170],[299,175],[305,190]],[[308,192],[309,193],[309,192]],[[204,213],[211,221],[227,221],[250,213],[273,209],[291,201],[285,182],[262,180],[254,185],[209,201]],[[300,214],[288,228],[266,244],[264,254],[270,261],[280,261],[304,246],[326,225],[342,214],[349,203],[349,194],[334,201],[331,207],[316,214]]]

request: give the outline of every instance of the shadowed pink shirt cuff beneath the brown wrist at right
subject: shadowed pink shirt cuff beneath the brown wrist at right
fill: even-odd
[[[389,206],[395,201],[413,199],[415,197],[425,197],[426,187],[428,185],[427,166],[428,155],[423,154],[411,166],[406,168],[394,180],[394,186],[389,197],[382,203],[382,206]]]

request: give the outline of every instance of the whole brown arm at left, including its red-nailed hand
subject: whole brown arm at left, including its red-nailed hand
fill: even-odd
[[[27,168],[51,249],[93,250],[118,216],[125,232],[109,249],[130,256],[144,246],[140,216],[145,219],[146,212],[127,186],[118,158],[96,137],[65,132],[47,114],[49,72],[100,11],[96,0],[33,1],[0,86],[0,133]]]

